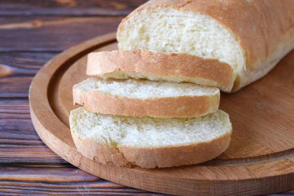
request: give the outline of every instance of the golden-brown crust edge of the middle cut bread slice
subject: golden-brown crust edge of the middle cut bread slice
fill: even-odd
[[[81,92],[73,86],[73,103],[83,105],[90,112],[123,116],[196,117],[216,112],[220,92],[212,96],[180,96],[166,98],[126,98],[100,91]]]

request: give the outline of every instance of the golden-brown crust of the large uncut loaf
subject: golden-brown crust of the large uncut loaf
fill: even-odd
[[[154,7],[209,16],[235,35],[246,63],[237,73],[233,91],[266,75],[294,48],[293,0],[149,0],[123,19],[118,40],[126,20]]]

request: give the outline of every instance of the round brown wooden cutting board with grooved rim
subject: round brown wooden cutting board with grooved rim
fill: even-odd
[[[221,94],[230,115],[230,147],[198,165],[142,169],[102,165],[83,157],[69,128],[73,84],[87,78],[92,51],[117,49],[115,33],[86,41],[50,60],[29,90],[40,138],[74,166],[126,186],[173,195],[253,196],[294,189],[294,51],[266,77],[235,94]],[[191,156],[197,156],[192,154]]]

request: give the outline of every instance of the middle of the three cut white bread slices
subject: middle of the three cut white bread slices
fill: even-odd
[[[220,90],[191,83],[89,78],[73,86],[73,102],[103,114],[194,117],[217,111]]]

